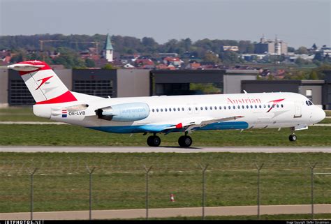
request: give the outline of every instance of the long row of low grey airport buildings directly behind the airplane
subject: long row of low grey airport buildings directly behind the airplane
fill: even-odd
[[[239,94],[289,91],[331,109],[331,70],[325,80],[257,80],[257,70],[55,69],[68,89],[101,97]],[[33,105],[15,70],[0,69],[0,106]],[[209,91],[198,87],[210,87]],[[211,90],[210,90],[211,89]]]

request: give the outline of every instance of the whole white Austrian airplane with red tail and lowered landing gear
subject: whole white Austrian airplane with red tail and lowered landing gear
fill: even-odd
[[[295,142],[296,130],[325,118],[307,97],[289,92],[101,98],[69,91],[43,61],[8,68],[19,71],[36,100],[36,116],[108,133],[151,134],[150,147],[159,147],[161,133],[181,132],[179,146],[190,147],[196,130],[252,128],[290,128]]]

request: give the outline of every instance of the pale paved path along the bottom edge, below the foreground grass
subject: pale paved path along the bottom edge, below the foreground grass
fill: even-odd
[[[205,216],[256,216],[257,206],[232,206],[232,207],[205,207]],[[191,208],[163,208],[149,209],[149,218],[166,218],[177,216],[201,217],[201,207]],[[315,214],[328,214],[331,204],[315,204]],[[262,205],[260,214],[310,214],[311,204],[288,204],[288,205]],[[116,209],[91,211],[92,219],[115,219],[115,218],[145,218],[145,209]],[[29,219],[29,212],[2,213],[0,220],[24,220]],[[87,220],[89,211],[46,211],[34,212],[36,220]]]

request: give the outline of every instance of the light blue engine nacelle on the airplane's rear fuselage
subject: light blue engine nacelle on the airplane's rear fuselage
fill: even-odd
[[[123,103],[95,111],[98,119],[108,121],[140,121],[149,115],[147,103]]]

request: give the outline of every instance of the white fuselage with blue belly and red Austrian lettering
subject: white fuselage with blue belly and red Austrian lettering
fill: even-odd
[[[294,128],[305,129],[325,117],[325,112],[309,99],[294,93],[217,94],[193,96],[150,96],[133,98],[97,98],[61,104],[34,105],[34,113],[66,122],[111,133],[161,133],[168,126],[189,122],[240,117],[233,121],[208,124],[194,130]],[[146,103],[149,115],[138,121],[108,121],[98,119],[98,108],[124,103]],[[84,110],[59,112],[72,105],[87,104]],[[172,131],[182,131],[174,129]]]

